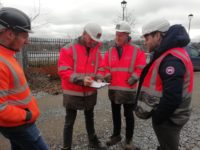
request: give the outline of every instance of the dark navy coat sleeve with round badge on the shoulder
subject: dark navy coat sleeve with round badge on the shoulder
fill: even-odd
[[[173,114],[182,102],[184,74],[183,62],[175,56],[167,56],[160,65],[159,74],[163,82],[163,95],[153,112],[154,123],[161,124]]]

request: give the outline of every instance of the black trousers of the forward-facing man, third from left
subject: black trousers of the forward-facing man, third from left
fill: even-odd
[[[111,101],[113,135],[120,135],[121,132],[121,105],[124,107],[124,117],[126,120],[126,140],[132,140],[134,130],[134,104],[115,104],[113,101]]]

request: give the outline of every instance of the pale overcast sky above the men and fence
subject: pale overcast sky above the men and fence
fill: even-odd
[[[37,37],[70,38],[81,35],[83,26],[96,22],[103,28],[103,38],[114,36],[115,20],[122,16],[122,0],[0,0],[4,7],[21,9],[33,21]],[[149,19],[164,17],[171,24],[188,30],[188,15],[193,14],[190,36],[200,42],[200,0],[126,0],[126,12],[135,19],[132,37],[141,36],[141,27]]]

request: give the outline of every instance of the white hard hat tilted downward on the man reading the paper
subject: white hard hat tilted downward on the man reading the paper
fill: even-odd
[[[86,31],[93,40],[101,42],[102,29],[98,24],[88,23],[85,25],[84,31]]]

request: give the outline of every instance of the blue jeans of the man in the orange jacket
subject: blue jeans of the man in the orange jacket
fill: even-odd
[[[4,128],[0,132],[10,140],[12,150],[48,150],[35,124],[23,128]]]

